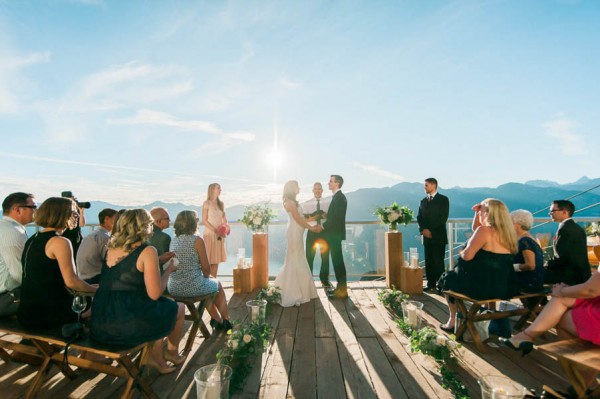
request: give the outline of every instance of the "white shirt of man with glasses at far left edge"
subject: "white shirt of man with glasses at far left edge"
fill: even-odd
[[[21,286],[21,256],[27,241],[25,227],[11,217],[0,219],[0,293]]]

